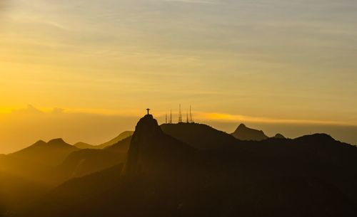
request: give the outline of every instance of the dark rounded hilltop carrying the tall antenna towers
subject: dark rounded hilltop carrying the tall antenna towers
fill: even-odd
[[[195,149],[225,149],[237,143],[237,140],[231,134],[221,132],[208,125],[178,123],[165,124],[160,127],[166,134],[189,144]]]

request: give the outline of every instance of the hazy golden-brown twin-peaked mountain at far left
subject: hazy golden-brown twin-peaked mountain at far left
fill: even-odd
[[[9,157],[55,166],[76,150],[77,147],[64,142],[63,139],[52,139],[47,143],[40,140],[26,149],[9,154]]]

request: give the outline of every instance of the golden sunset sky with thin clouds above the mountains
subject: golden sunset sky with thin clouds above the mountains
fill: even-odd
[[[0,153],[106,142],[151,107],[357,144],[355,0],[0,0]],[[95,132],[95,133],[94,133]],[[21,135],[21,136],[19,136]]]

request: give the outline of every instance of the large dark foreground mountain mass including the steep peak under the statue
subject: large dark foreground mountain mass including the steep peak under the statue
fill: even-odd
[[[67,181],[24,216],[357,215],[357,147],[326,134],[236,141],[193,149],[145,116],[124,170]]]

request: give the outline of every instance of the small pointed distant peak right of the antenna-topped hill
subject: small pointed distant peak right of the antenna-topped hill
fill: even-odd
[[[239,125],[235,132],[232,133],[233,137],[242,141],[261,141],[268,139],[268,136],[263,131],[258,129],[251,129],[246,125]]]

